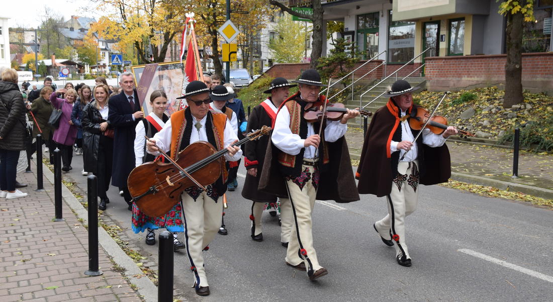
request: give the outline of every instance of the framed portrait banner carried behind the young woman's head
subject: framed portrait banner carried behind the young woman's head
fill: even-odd
[[[171,116],[179,110],[180,100],[176,98],[182,95],[184,68],[185,62],[180,61],[131,66],[144,115],[152,112],[150,95],[158,89],[167,95],[165,114]]]

